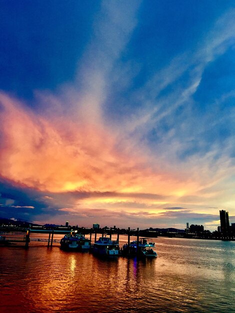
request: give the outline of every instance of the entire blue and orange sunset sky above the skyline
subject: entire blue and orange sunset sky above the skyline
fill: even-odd
[[[235,222],[233,0],[0,0],[0,216]]]

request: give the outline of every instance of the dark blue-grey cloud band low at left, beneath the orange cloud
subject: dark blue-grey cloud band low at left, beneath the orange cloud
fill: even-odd
[[[124,211],[111,212],[104,208],[92,208],[92,209],[78,209],[69,211],[69,208],[73,207],[74,201],[79,199],[89,199],[89,198],[136,198],[136,199],[161,199],[162,195],[152,194],[152,193],[133,193],[133,192],[87,192],[87,191],[73,191],[73,192],[45,192],[35,190],[33,188],[28,188],[23,185],[14,184],[11,181],[0,179],[0,215],[2,217],[10,218],[25,218],[27,220],[44,220],[45,218],[53,219],[53,217],[58,215],[73,214],[77,217],[86,216],[87,218],[93,218],[94,216],[105,216],[106,218],[125,218],[129,216],[131,218],[132,214],[126,214]],[[138,203],[138,202],[121,202],[126,208],[149,208],[148,204]],[[76,206],[79,206],[76,202]],[[33,207],[33,209],[32,209]],[[63,209],[67,207],[68,210]],[[119,207],[118,203],[110,203],[110,207]],[[156,207],[156,205],[150,205],[150,207]],[[135,216],[136,214],[133,214]],[[38,217],[40,216],[40,217]],[[139,212],[136,216],[149,216],[149,213]],[[139,217],[138,217],[139,218]],[[120,221],[121,222],[121,221]]]

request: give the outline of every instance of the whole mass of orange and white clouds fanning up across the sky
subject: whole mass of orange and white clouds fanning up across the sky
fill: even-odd
[[[141,62],[124,55],[139,7],[101,2],[74,82],[35,90],[34,105],[0,93],[0,175],[21,190],[4,190],[1,208],[135,224],[206,221],[233,209],[235,112],[203,114],[195,94],[208,64],[232,46],[234,10],[135,87]],[[120,102],[116,118],[109,108]],[[211,133],[224,122],[230,134],[219,140]]]

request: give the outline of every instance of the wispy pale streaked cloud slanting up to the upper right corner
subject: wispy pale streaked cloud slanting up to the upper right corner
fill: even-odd
[[[134,102],[138,99],[140,108],[131,114],[131,121],[128,116],[121,131],[128,130],[132,135],[143,137],[148,134],[149,128],[154,127],[161,140],[161,144],[157,145],[158,153],[160,150],[163,157],[170,157],[171,160],[178,158],[178,152],[182,153],[185,148],[188,149],[188,143],[194,138],[195,142],[198,142],[198,139],[203,140],[203,132],[209,127],[208,122],[206,123],[208,115],[205,118],[195,116],[193,106],[196,103],[193,101],[193,94],[200,85],[207,64],[232,46],[233,17],[234,10],[225,13],[211,30],[198,40],[197,46],[174,56],[168,65],[158,70],[133,93],[132,100]],[[163,92],[164,90],[167,92]],[[180,115],[177,114],[179,108]],[[165,131],[167,128],[170,128],[171,132]],[[155,147],[154,142],[151,143]],[[168,150],[167,146],[171,146],[171,153],[164,155],[164,151]]]

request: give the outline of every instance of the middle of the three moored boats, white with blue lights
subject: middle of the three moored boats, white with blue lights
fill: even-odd
[[[93,243],[92,252],[102,256],[118,256],[120,255],[119,244],[117,241],[112,241],[109,237],[99,237]]]

